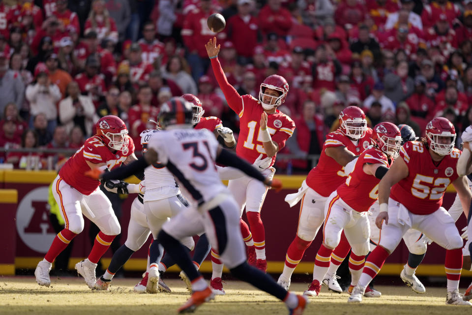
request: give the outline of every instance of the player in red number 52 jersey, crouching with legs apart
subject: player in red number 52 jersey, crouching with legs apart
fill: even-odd
[[[361,302],[364,290],[395,250],[408,229],[414,228],[446,250],[446,304],[470,305],[459,295],[462,268],[462,238],[454,220],[442,207],[449,184],[459,194],[468,212],[472,193],[465,177],[456,171],[461,152],[454,149],[456,131],[445,118],[426,126],[426,139],[407,142],[379,184],[380,214],[376,225],[382,229],[379,245],[369,254],[349,302]]]

